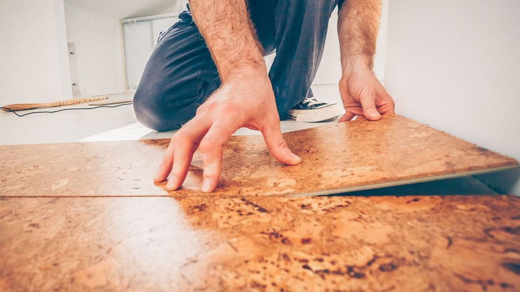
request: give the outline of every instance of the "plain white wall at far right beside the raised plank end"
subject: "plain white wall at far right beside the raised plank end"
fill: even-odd
[[[520,160],[518,12],[518,0],[392,0],[385,85],[397,113]],[[519,175],[480,178],[520,195]]]

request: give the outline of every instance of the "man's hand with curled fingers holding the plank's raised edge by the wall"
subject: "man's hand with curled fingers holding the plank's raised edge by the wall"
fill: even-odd
[[[343,77],[339,85],[345,114],[338,122],[350,121],[356,115],[375,121],[382,114],[394,112],[394,101],[371,70]]]

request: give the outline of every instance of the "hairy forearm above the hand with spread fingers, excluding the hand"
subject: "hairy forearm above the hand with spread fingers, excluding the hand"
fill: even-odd
[[[223,83],[244,74],[267,77],[245,0],[190,0],[189,5]]]

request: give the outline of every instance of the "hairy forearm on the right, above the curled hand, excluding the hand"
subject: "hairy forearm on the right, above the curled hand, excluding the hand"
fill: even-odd
[[[372,69],[380,17],[381,0],[348,0],[341,7],[337,31],[344,75]]]

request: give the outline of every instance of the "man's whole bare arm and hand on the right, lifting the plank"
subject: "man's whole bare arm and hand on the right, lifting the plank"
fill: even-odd
[[[372,72],[375,41],[381,17],[381,0],[347,0],[337,22],[342,77],[340,94],[345,114],[339,122],[356,115],[379,120],[394,112],[394,101]]]

